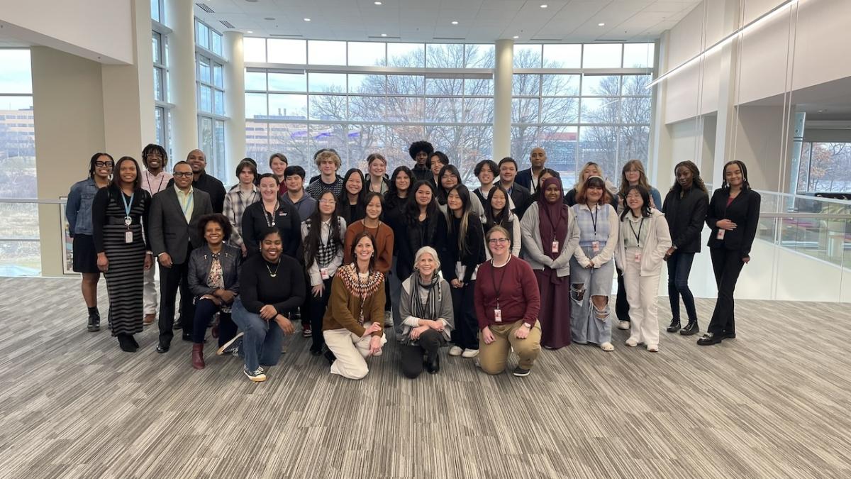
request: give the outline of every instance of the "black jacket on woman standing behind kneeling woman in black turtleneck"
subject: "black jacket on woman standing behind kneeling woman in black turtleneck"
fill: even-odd
[[[269,227],[269,216],[263,209],[263,201],[248,205],[243,213],[243,241],[248,255],[260,252],[260,232]],[[278,201],[275,211],[275,228],[281,232],[283,254],[298,257],[301,245],[301,218],[295,206],[286,201]]]

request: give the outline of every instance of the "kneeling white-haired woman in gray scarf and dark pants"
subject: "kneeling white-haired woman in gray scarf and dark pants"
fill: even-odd
[[[417,251],[414,273],[402,283],[399,313],[402,315],[402,373],[416,378],[423,371],[423,355],[428,372],[440,371],[440,347],[454,327],[452,291],[437,276],[437,251],[424,246]]]

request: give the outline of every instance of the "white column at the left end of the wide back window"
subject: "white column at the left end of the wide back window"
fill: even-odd
[[[245,60],[243,34],[225,32],[225,113],[230,118],[225,125],[226,173],[236,170],[245,157]]]

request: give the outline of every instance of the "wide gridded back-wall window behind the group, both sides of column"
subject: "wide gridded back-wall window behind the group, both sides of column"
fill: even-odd
[[[410,165],[408,145],[426,139],[475,184],[474,165],[492,157],[494,45],[243,44],[247,154],[261,165],[283,152],[313,173],[313,152],[333,147],[341,170],[365,168],[375,151],[392,170]],[[570,181],[583,161],[600,162],[612,175],[628,159],[646,160],[650,93],[643,87],[653,45],[603,46],[586,52],[594,61],[583,60],[580,44],[515,47],[511,153],[521,167],[538,145]]]

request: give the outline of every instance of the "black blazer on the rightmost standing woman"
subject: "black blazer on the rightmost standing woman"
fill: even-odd
[[[709,202],[709,211],[706,213],[706,225],[712,229],[709,235],[710,248],[724,248],[727,250],[739,250],[742,257],[751,256],[751,245],[757,236],[757,224],[759,222],[759,204],[762,200],[759,193],[752,189],[742,190],[739,196],[727,205],[730,197],[728,189],[718,188],[712,193]],[[724,232],[724,239],[718,240],[718,227],[715,225],[719,220],[728,219],[736,223],[732,231]]]

